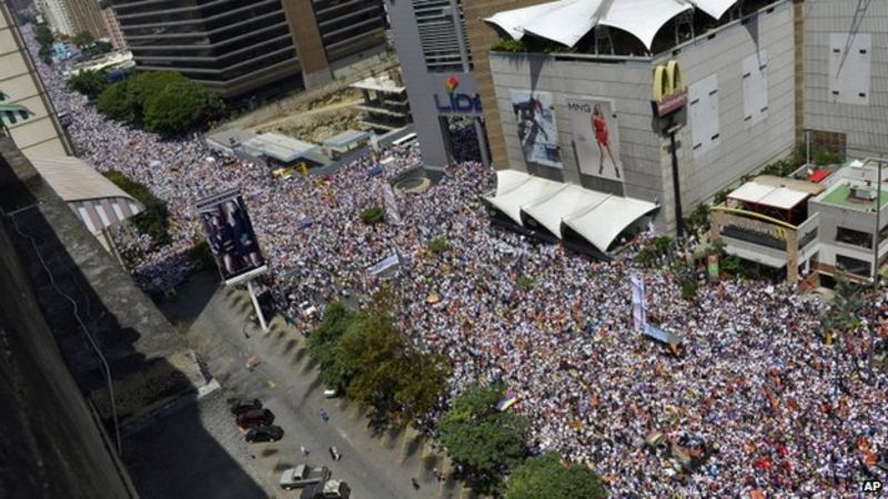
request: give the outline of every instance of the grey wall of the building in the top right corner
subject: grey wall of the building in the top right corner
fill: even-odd
[[[830,35],[847,41],[858,3],[858,0],[807,0],[803,6],[805,128],[847,134],[849,156],[878,156],[888,154],[888,2],[868,2],[857,31],[856,40],[868,37],[871,42],[868,81],[861,81],[865,77],[855,70],[854,53],[838,73],[846,81],[868,83],[868,103],[839,102],[830,91]]]

